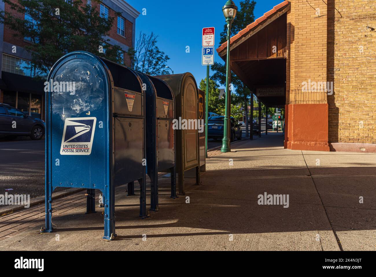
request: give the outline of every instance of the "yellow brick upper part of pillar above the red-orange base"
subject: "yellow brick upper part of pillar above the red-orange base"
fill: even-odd
[[[302,82],[326,82],[327,5],[292,0],[288,25],[287,104],[327,103],[324,92],[302,91]]]

